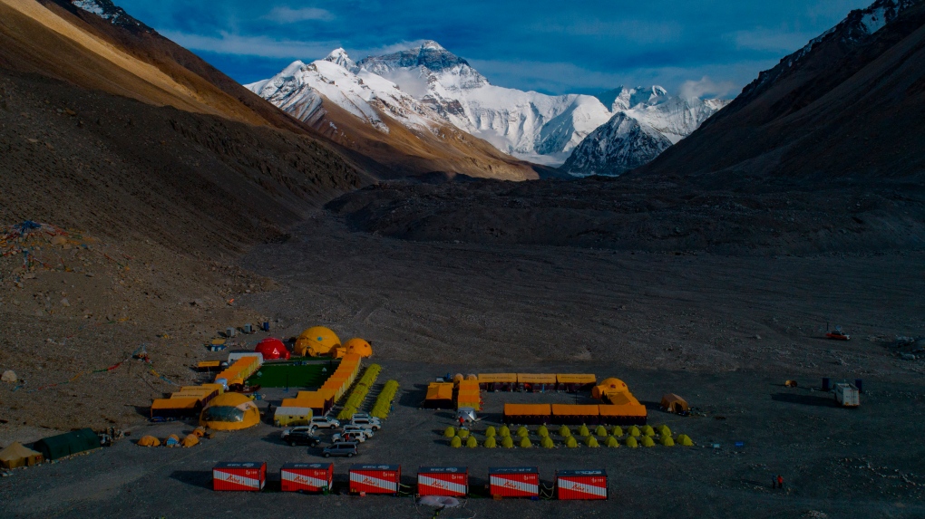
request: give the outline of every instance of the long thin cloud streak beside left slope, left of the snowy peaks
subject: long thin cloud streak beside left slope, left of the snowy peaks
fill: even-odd
[[[276,40],[266,36],[240,36],[221,32],[219,36],[203,36],[172,30],[161,31],[167,38],[195,51],[217,54],[240,54],[271,58],[312,60],[326,56],[340,42],[301,42]]]

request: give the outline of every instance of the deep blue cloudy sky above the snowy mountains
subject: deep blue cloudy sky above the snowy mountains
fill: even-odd
[[[873,0],[116,0],[242,83],[344,47],[436,40],[496,85],[596,93],[659,84],[732,97]]]

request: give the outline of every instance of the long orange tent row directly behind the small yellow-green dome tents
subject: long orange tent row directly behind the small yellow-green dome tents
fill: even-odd
[[[512,424],[642,425],[646,419],[645,405],[504,404],[504,422]]]

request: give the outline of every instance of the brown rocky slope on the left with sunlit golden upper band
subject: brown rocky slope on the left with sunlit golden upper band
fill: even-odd
[[[0,0],[0,441],[138,423],[269,318],[234,259],[370,182],[313,132],[104,0]]]

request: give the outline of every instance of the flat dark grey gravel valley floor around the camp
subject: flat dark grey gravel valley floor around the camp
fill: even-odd
[[[476,496],[441,517],[925,514],[922,364],[886,347],[925,328],[920,254],[758,259],[407,243],[319,216],[288,242],[254,249],[242,266],[279,285],[242,297],[279,320],[277,333],[322,323],[344,339],[363,336],[384,367],[379,380],[400,381],[394,414],[358,462],[401,464],[405,484],[419,465],[468,465],[476,494],[495,465],[537,465],[547,485],[556,469],[603,467],[611,476],[607,502]],[[852,341],[820,338],[827,321],[844,325]],[[667,423],[697,446],[450,449],[439,431],[451,415],[418,409],[423,385],[447,372],[499,370],[616,376],[649,406],[651,424]],[[864,379],[861,407],[835,407],[812,390],[822,376]],[[786,379],[799,387],[784,388]],[[282,398],[276,392],[269,403]],[[684,395],[704,416],[662,413],[664,392]],[[499,419],[504,401],[556,399],[573,396],[489,393],[477,429]],[[191,427],[138,426],[131,438]],[[336,462],[335,495],[273,491],[280,465],[321,459],[277,435],[262,424],[189,450],[120,441],[17,470],[0,479],[0,516],[296,516],[306,507],[329,517],[430,516],[408,498],[342,495],[347,460]],[[228,460],[266,461],[267,491],[211,491],[212,465]],[[786,490],[770,489],[774,474]]]

